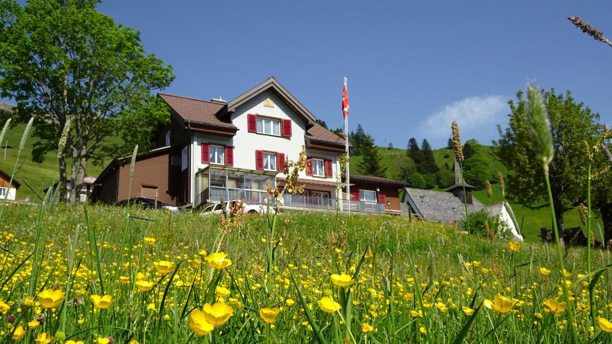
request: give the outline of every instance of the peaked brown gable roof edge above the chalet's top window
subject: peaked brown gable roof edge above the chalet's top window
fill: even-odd
[[[293,95],[289,93],[287,89],[285,89],[280,83],[278,83],[278,81],[274,77],[267,78],[263,83],[258,84],[254,88],[248,90],[247,92],[244,92],[235,99],[230,100],[230,102],[228,102],[226,105],[226,111],[228,113],[235,111],[237,107],[241,106],[242,104],[248,102],[248,100],[253,99],[253,97],[255,97],[256,95],[259,95],[267,90],[271,90],[275,94],[277,94],[278,97],[280,97],[280,99],[282,99],[285,104],[288,105],[288,107],[294,111],[294,113],[300,116],[300,118],[304,119],[307,129],[315,124],[315,116],[310,113],[310,111],[308,111],[308,109],[305,108],[302,103],[300,103],[295,97],[293,97]]]

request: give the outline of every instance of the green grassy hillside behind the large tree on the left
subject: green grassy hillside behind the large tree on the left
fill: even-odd
[[[13,129],[10,129],[6,133],[6,136],[4,136],[4,142],[0,144],[2,147],[0,149],[0,170],[9,175],[12,174],[15,168],[21,135],[23,134],[25,126],[25,124],[18,124]],[[15,180],[21,183],[21,187],[17,190],[17,200],[25,200],[26,198],[34,200],[35,197],[34,193],[25,185],[23,179],[25,179],[33,189],[37,190],[37,192],[53,184],[53,179],[55,179],[56,182],[59,179],[59,170],[56,166],[58,161],[56,152],[48,152],[42,163],[32,162],[32,147],[36,141],[37,138],[31,136],[29,140],[26,141],[25,148],[19,156],[20,163],[24,160],[27,161],[24,163],[21,170],[15,174]],[[6,144],[10,148],[4,149]],[[70,162],[71,160],[69,160],[68,163],[70,164]],[[106,163],[108,162],[105,162],[104,165],[106,165]],[[97,177],[98,174],[102,172],[102,169],[102,166],[95,166],[90,162],[87,166],[87,174]],[[70,175],[70,171],[68,171],[68,174]]]

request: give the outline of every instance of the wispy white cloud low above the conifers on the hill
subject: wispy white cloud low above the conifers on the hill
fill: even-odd
[[[505,124],[504,114],[509,111],[507,98],[501,95],[485,95],[466,98],[447,104],[436,113],[421,121],[425,135],[431,141],[450,137],[450,123],[457,121],[462,141],[476,138],[482,144],[489,144],[497,138],[496,124]]]

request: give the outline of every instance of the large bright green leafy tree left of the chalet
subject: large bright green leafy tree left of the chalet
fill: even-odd
[[[102,163],[135,144],[151,146],[152,132],[170,118],[151,91],[170,85],[172,68],[144,51],[140,32],[98,12],[98,2],[0,2],[1,95],[15,99],[17,119],[34,116],[36,162],[58,148],[65,122],[72,122],[59,165],[61,185],[70,167],[73,190],[80,190],[90,159]]]

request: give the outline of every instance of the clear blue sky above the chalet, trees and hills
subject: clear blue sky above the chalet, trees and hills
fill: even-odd
[[[612,48],[566,19],[578,15],[612,39],[608,1],[119,1],[100,12],[141,30],[145,48],[174,67],[164,92],[233,99],[274,75],[329,127],[349,125],[379,145],[411,136],[489,143],[507,124],[507,100],[528,81],[570,89],[612,122]]]

